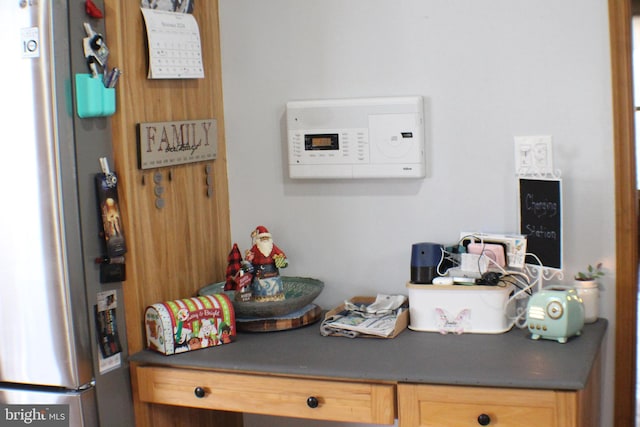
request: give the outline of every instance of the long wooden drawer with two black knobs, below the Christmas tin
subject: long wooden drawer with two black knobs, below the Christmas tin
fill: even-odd
[[[154,366],[138,366],[136,373],[138,397],[149,403],[375,424],[393,424],[396,416],[392,384]]]

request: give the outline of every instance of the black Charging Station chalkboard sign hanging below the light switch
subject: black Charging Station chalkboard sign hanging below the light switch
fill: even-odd
[[[542,265],[562,268],[562,185],[557,179],[520,179],[520,233]],[[527,264],[538,264],[531,257]]]

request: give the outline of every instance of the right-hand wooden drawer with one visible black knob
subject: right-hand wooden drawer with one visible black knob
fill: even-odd
[[[578,427],[577,406],[574,391],[398,385],[400,427]]]

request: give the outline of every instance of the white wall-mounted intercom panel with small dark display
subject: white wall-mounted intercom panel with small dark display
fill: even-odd
[[[287,103],[291,178],[422,178],[421,96]]]

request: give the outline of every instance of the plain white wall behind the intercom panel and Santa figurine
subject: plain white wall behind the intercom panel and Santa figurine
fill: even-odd
[[[412,243],[517,231],[516,135],[553,136],[565,275],[600,260],[614,269],[606,1],[220,0],[220,24],[233,239],[244,250],[267,226],[289,258],[284,274],[325,282],[324,308],[404,293]],[[425,98],[425,179],[288,178],[287,101],[395,95]],[[614,283],[611,273],[602,301],[603,426],[613,419]]]

